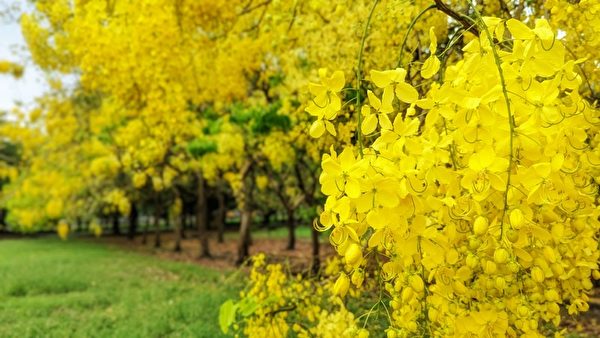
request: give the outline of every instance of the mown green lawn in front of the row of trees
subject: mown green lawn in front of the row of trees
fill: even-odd
[[[234,277],[84,241],[0,241],[0,337],[220,337]]]

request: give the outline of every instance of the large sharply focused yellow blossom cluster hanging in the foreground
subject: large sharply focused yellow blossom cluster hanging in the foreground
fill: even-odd
[[[379,262],[388,337],[543,337],[561,306],[587,310],[598,276],[600,112],[579,94],[581,61],[543,19],[478,27],[422,96],[403,68],[371,71],[364,149],[322,159],[322,230],[352,279]],[[313,136],[341,114],[344,79],[321,80]]]

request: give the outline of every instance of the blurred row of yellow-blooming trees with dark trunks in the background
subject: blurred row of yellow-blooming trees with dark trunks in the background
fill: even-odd
[[[554,2],[477,6],[483,15],[525,19]],[[248,256],[254,214],[281,210],[293,248],[296,223],[315,217],[325,203],[321,154],[334,139],[343,146],[361,137],[362,69],[406,65],[407,81],[417,84],[424,80],[417,66],[431,52],[431,27],[444,64],[461,57],[449,50],[475,38],[456,14],[471,11],[467,1],[436,1],[437,10],[425,0],[375,1],[385,9],[375,12],[373,1],[344,0],[31,3],[22,31],[50,90],[35,109],[16,110],[17,123],[2,125],[10,151],[19,154],[18,163],[4,161],[12,170],[2,187],[10,229],[40,231],[60,221],[75,226],[121,215],[135,234],[143,214],[152,216],[158,236],[158,220],[168,214],[179,241],[182,215],[193,213],[201,254],[208,256],[208,215],[222,230],[225,212],[237,210],[239,262]],[[593,100],[598,49],[591,46],[598,34],[587,5],[576,13],[589,25],[561,13],[552,20],[573,55],[591,55],[577,71],[585,74],[583,95]],[[310,101],[309,89],[317,106],[335,101],[329,89],[340,85],[339,74],[322,69],[332,65],[346,70],[348,83],[358,82],[341,91],[339,102],[351,109],[335,129],[331,113],[309,109],[315,122],[301,104]],[[63,85],[65,78],[76,85]],[[307,79],[322,85],[309,86]],[[425,92],[427,86],[416,87]],[[309,136],[325,131],[331,135]],[[307,210],[302,217],[300,209]],[[316,257],[316,230],[312,238]]]

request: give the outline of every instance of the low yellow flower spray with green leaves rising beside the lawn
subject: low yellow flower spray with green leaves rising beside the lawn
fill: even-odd
[[[294,277],[285,272],[281,264],[267,264],[265,259],[264,254],[253,257],[247,290],[241,293],[242,300],[235,305],[239,323],[233,326],[240,330],[241,324],[244,336],[369,336],[342,300],[331,293],[329,276],[321,281],[302,275]],[[326,270],[335,272],[339,264],[332,260]]]

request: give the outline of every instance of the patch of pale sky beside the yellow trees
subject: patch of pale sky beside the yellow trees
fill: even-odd
[[[14,1],[0,0],[0,11],[8,8],[11,3]],[[0,74],[0,111],[10,111],[15,102],[29,106],[46,89],[44,74],[31,62],[21,28],[14,16],[16,15],[13,14],[13,18],[0,17],[0,60],[25,66],[25,73],[20,79]]]

